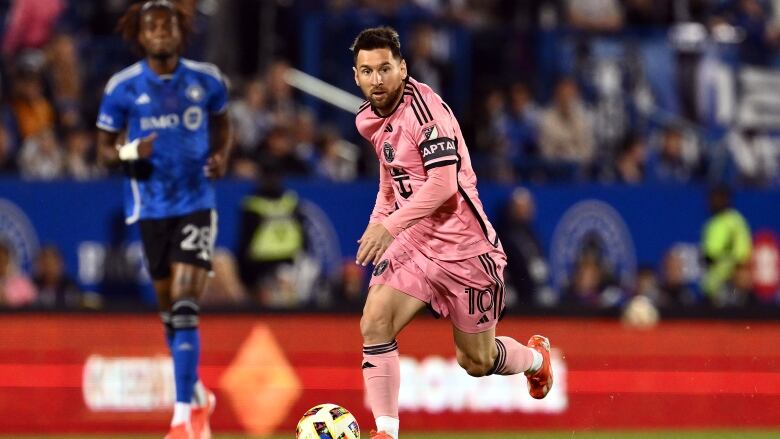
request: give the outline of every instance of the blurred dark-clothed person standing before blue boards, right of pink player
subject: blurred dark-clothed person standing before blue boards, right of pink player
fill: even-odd
[[[499,236],[507,256],[506,281],[516,297],[515,302],[529,306],[545,302],[548,292],[549,269],[544,258],[542,243],[534,228],[536,205],[528,189],[512,191],[504,208],[502,221],[498,224]]]

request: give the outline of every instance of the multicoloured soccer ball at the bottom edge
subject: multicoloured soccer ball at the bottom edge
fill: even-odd
[[[296,439],[360,439],[360,427],[347,409],[320,404],[303,414],[295,427]]]

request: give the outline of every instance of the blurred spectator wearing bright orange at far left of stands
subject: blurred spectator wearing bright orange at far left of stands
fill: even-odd
[[[40,68],[34,59],[22,61],[13,78],[11,108],[24,140],[55,128],[54,108],[44,96]]]

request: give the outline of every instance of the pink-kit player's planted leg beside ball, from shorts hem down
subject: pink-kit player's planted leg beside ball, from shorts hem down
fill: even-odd
[[[398,438],[400,358],[395,337],[425,302],[389,285],[371,286],[360,319],[363,380],[377,431]]]

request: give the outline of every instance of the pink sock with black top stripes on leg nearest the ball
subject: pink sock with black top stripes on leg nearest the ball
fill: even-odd
[[[401,364],[395,340],[363,346],[363,382],[374,418],[389,416],[398,419]]]

